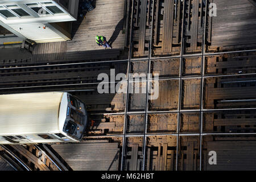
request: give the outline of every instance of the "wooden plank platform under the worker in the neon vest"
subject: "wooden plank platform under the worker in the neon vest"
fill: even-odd
[[[123,34],[123,10],[125,1],[97,0],[96,8],[86,14],[84,19],[73,22],[73,39],[68,42],[36,44],[32,61],[77,61],[95,59],[114,59],[125,48]],[[96,35],[105,36],[113,49],[96,44]]]

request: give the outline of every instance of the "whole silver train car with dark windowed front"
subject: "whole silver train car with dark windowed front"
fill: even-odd
[[[87,117],[67,92],[0,95],[0,144],[79,142]]]

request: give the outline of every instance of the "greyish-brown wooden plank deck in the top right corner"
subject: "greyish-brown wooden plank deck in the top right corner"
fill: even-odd
[[[256,43],[256,6],[248,0],[213,2],[217,5],[217,16],[212,18],[212,46]]]

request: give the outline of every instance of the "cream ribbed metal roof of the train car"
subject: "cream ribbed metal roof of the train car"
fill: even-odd
[[[63,94],[0,95],[0,135],[59,133],[59,108]]]

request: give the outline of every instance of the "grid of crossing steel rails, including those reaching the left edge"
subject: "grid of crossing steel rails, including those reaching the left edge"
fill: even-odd
[[[151,32],[150,32],[150,49],[148,51],[148,56],[143,57],[143,58],[132,58],[132,47],[133,47],[133,17],[134,17],[134,0],[131,0],[132,2],[132,11],[131,11],[131,24],[130,24],[130,48],[129,48],[129,59],[125,60],[112,60],[112,61],[105,61],[104,63],[127,63],[127,79],[122,81],[127,84],[127,93],[126,93],[126,101],[125,101],[125,111],[121,111],[119,113],[95,113],[92,115],[125,115],[124,117],[124,123],[123,123],[123,134],[119,135],[102,135],[100,137],[122,137],[122,157],[121,157],[121,170],[124,170],[125,168],[125,159],[126,159],[126,138],[129,137],[142,137],[143,138],[143,171],[146,168],[146,148],[147,148],[147,137],[151,136],[175,136],[176,137],[176,168],[175,170],[177,171],[178,169],[178,164],[179,164],[179,148],[180,148],[180,137],[182,136],[198,136],[200,139],[200,145],[199,145],[199,154],[200,154],[200,171],[202,170],[202,147],[203,147],[203,136],[205,135],[256,135],[256,133],[205,133],[203,131],[203,115],[204,113],[208,112],[213,112],[213,111],[230,111],[230,110],[256,110],[255,108],[229,108],[229,109],[204,109],[204,81],[205,78],[219,78],[219,77],[232,77],[232,76],[256,76],[256,73],[246,73],[246,74],[230,74],[230,75],[205,75],[205,57],[207,56],[215,56],[215,55],[227,55],[227,54],[232,54],[232,53],[245,53],[245,52],[256,52],[256,49],[251,49],[251,50],[244,50],[244,51],[229,51],[229,52],[216,52],[216,53],[209,53],[205,52],[206,49],[206,41],[207,37],[206,35],[206,23],[207,23],[207,6],[208,6],[208,0],[206,0],[205,4],[205,19],[204,19],[204,35],[203,35],[203,48],[201,53],[195,53],[195,54],[184,54],[184,14],[185,14],[185,1],[179,1],[181,4],[183,4],[183,12],[182,12],[182,26],[181,26],[181,51],[180,55],[177,56],[165,56],[165,57],[152,57],[151,52],[152,52],[152,34],[153,34],[153,16],[154,16],[154,3],[153,1],[152,7],[152,20],[151,20]],[[144,0],[143,0],[144,1]],[[177,5],[176,5],[177,6]],[[201,7],[204,8],[204,7]],[[148,10],[150,11],[150,10]],[[127,17],[129,18],[129,17]],[[1,22],[0,22],[1,24]],[[185,57],[201,57],[201,75],[200,76],[183,76],[183,59]],[[256,56],[255,56],[256,57]],[[152,78],[147,77],[146,78],[146,85],[147,85],[147,94],[146,94],[146,107],[144,111],[129,111],[129,73],[131,69],[131,63],[132,61],[147,61],[147,73],[151,73],[151,61],[152,60],[164,60],[164,59],[179,59],[180,64],[179,64],[179,76],[177,77],[166,77],[166,78],[159,78],[159,80],[178,80],[179,81],[179,101],[178,101],[178,106],[176,110],[170,110],[170,111],[152,111],[149,110],[148,108],[148,85],[150,84],[150,81],[153,81]],[[95,64],[95,63],[102,63],[101,61],[94,61],[94,62],[86,62],[86,63],[67,63],[67,64],[52,64],[52,65],[31,65],[28,67],[13,67],[13,68],[0,68],[0,70],[5,70],[5,69],[18,69],[18,68],[40,68],[40,67],[53,67],[53,66],[61,66],[61,65],[83,65],[83,64]],[[183,85],[183,80],[188,80],[188,79],[200,79],[200,108],[199,109],[182,109],[182,85]],[[139,81],[139,80],[136,80]],[[108,82],[111,83],[111,82]],[[98,83],[85,83],[85,84],[73,84],[73,86],[81,86],[81,85],[96,85]],[[20,87],[20,88],[0,88],[0,90],[7,90],[7,89],[25,89],[25,88],[53,88],[56,86],[67,86],[67,85],[46,85],[46,86],[28,86],[28,87]],[[72,86],[72,85],[68,85]],[[76,92],[76,91],[92,91],[94,89],[88,89],[88,90],[68,90],[68,92]],[[63,91],[63,90],[62,90]],[[67,92],[67,91],[66,91]],[[193,113],[197,112],[200,113],[200,123],[199,123],[199,132],[198,133],[180,133],[180,123],[181,123],[181,117],[180,115],[183,113]],[[177,113],[177,129],[176,133],[148,133],[147,131],[147,126],[148,126],[148,114],[160,114],[160,113]],[[144,120],[144,132],[143,134],[127,134],[127,115],[129,114],[144,114],[145,115],[145,120]],[[88,137],[88,138],[95,138],[95,137]]]

